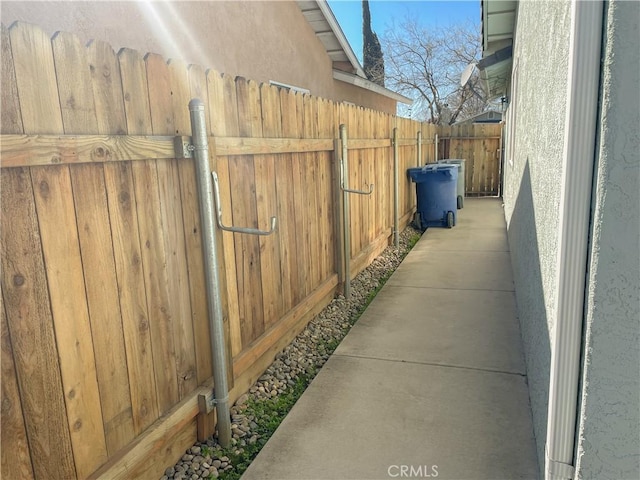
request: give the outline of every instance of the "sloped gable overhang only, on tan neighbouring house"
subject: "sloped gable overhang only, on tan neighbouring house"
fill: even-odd
[[[345,37],[327,2],[324,0],[300,0],[298,7],[313,28],[318,40],[322,42],[329,58],[334,63],[350,63],[353,67],[352,73],[367,78],[358,57],[349,45],[347,37]]]

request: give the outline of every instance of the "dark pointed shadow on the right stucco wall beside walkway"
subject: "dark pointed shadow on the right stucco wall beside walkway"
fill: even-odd
[[[529,160],[525,164],[511,222],[507,228],[516,304],[527,366],[529,399],[540,471],[544,472],[547,407],[551,371],[550,332],[540,268],[536,212]]]

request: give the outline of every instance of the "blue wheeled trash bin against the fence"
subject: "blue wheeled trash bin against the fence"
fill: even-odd
[[[432,163],[410,168],[407,174],[416,184],[416,226],[420,230],[434,226],[453,227],[458,211],[458,165]]]

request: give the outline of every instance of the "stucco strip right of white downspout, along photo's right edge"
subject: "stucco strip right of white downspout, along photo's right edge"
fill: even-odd
[[[640,3],[607,4],[578,432],[584,479],[640,478],[639,20]]]

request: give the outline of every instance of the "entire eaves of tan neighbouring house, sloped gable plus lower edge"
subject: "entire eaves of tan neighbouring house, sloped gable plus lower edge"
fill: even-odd
[[[413,103],[410,98],[381,87],[367,79],[358,57],[353,52],[351,45],[349,45],[347,37],[344,35],[342,28],[340,28],[340,24],[326,0],[298,0],[297,3],[300,10],[302,10],[304,18],[313,28],[316,37],[318,37],[333,62],[333,78],[335,80],[356,85],[407,105]],[[345,65],[349,65],[348,71],[345,70]]]

